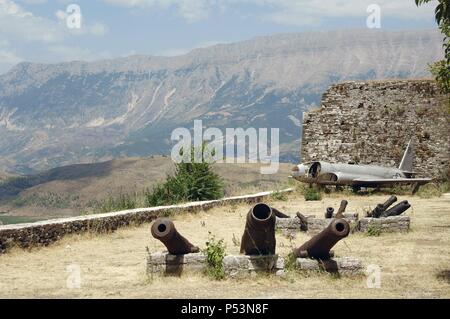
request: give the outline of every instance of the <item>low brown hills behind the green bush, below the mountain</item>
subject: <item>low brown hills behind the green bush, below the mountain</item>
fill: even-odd
[[[291,165],[274,175],[261,175],[255,164],[216,164],[227,195],[272,190],[286,183]],[[36,175],[10,178],[0,184],[0,211],[10,215],[78,215],[110,196],[142,192],[173,172],[168,157],[125,158],[59,167]]]

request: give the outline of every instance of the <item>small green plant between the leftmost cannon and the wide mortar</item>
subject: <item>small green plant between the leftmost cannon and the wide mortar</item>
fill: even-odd
[[[209,239],[206,242],[206,248],[203,253],[206,255],[208,267],[206,274],[215,280],[225,278],[223,269],[223,258],[225,257],[225,244],[223,239],[217,240],[214,235],[209,233]]]

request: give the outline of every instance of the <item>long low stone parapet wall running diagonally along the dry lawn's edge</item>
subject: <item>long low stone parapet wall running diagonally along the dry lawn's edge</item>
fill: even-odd
[[[279,192],[290,193],[292,189]],[[88,231],[109,232],[128,225],[148,223],[161,216],[170,214],[206,210],[234,203],[256,203],[274,192],[262,192],[253,195],[234,196],[219,200],[192,202],[180,205],[138,208],[114,213],[60,218],[29,224],[0,226],[0,253],[18,246],[47,246],[65,235]]]

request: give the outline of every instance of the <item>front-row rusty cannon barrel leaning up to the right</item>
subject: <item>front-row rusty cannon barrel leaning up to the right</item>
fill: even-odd
[[[310,257],[327,260],[333,255],[330,251],[331,248],[339,240],[347,237],[349,232],[350,225],[345,219],[334,219],[327,228],[299,248],[294,249],[294,255],[302,258]]]

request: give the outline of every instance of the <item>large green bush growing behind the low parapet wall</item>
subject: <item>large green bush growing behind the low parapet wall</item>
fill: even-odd
[[[204,147],[203,147],[204,150]],[[147,206],[172,205],[184,201],[212,200],[223,197],[224,182],[213,172],[211,164],[205,161],[194,163],[194,149],[191,162],[175,164],[175,174],[157,184],[145,193]]]

